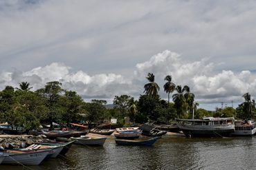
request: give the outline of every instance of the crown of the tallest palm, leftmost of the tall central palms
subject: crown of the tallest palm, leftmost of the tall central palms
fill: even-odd
[[[154,74],[148,73],[146,78],[149,81],[149,83],[144,85],[144,89],[145,89],[144,92],[146,92],[148,96],[158,95],[158,91],[160,90],[160,87],[156,82],[154,82],[155,81]]]

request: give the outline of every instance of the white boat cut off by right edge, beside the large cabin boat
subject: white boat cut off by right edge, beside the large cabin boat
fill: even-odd
[[[253,136],[256,133],[255,123],[250,121],[235,121],[235,132],[231,133],[232,136]]]

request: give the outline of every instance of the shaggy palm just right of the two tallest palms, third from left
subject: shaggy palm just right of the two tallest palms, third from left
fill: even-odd
[[[185,89],[181,87],[181,85],[177,85],[175,87],[176,94],[172,95],[172,100],[174,101],[174,107],[176,108],[177,111],[177,116],[181,116],[185,109],[185,97],[183,95]]]

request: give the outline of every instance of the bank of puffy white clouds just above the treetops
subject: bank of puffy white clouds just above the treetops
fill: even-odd
[[[49,81],[60,81],[64,89],[76,91],[86,100],[104,98],[111,101],[114,96],[121,94],[138,98],[143,94],[143,86],[147,83],[145,77],[150,72],[161,87],[162,98],[167,97],[163,91],[163,78],[167,75],[172,75],[176,85],[188,85],[199,103],[241,102],[241,96],[246,92],[255,97],[256,74],[247,70],[237,73],[223,70],[213,74],[214,65],[207,59],[188,62],[180,54],[165,50],[152,56],[149,61],[138,63],[133,77],[113,73],[89,75],[82,71],[71,72],[71,67],[64,63],[51,63],[27,72],[1,72],[0,87],[17,87],[22,81],[28,81],[35,90]]]

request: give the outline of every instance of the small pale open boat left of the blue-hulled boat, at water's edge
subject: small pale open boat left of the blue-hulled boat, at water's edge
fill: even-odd
[[[104,145],[104,142],[107,138],[98,137],[98,138],[90,138],[89,136],[81,136],[79,138],[71,137],[71,140],[74,140],[75,144],[78,145]]]

